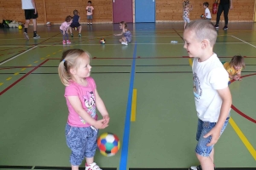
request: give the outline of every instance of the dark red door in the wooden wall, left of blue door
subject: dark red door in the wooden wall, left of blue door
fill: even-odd
[[[113,0],[113,23],[133,22],[132,0]]]

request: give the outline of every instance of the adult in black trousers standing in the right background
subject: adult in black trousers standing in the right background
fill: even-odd
[[[229,11],[233,9],[233,0],[219,0],[218,4],[218,12],[217,12],[217,18],[216,18],[216,25],[215,28],[218,29],[218,23],[220,19],[220,15],[224,11],[224,21],[225,26],[224,30],[228,30],[228,24],[229,24]]]

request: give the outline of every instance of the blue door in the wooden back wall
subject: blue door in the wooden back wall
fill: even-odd
[[[135,0],[135,22],[154,22],[154,6],[154,0]]]

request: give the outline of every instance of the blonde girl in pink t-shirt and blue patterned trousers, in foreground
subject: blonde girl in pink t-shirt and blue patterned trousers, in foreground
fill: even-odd
[[[62,54],[58,68],[66,86],[68,118],[65,129],[67,146],[72,150],[72,170],[86,160],[85,170],[102,170],[94,162],[98,129],[108,127],[108,111],[90,77],[90,54],[82,49],[68,49]],[[96,108],[102,114],[97,120]]]

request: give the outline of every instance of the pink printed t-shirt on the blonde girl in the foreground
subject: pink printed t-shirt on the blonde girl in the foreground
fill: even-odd
[[[84,87],[77,82],[69,82],[69,86],[65,89],[64,96],[67,100],[67,108],[68,108],[68,117],[67,123],[72,127],[90,127],[90,124],[85,122],[79,114],[74,111],[73,106],[69,103],[67,96],[79,96],[82,107],[84,110],[90,114],[92,118],[97,120],[96,115],[96,99],[95,99],[95,89],[96,83],[94,82],[92,77],[87,77],[87,86]]]

